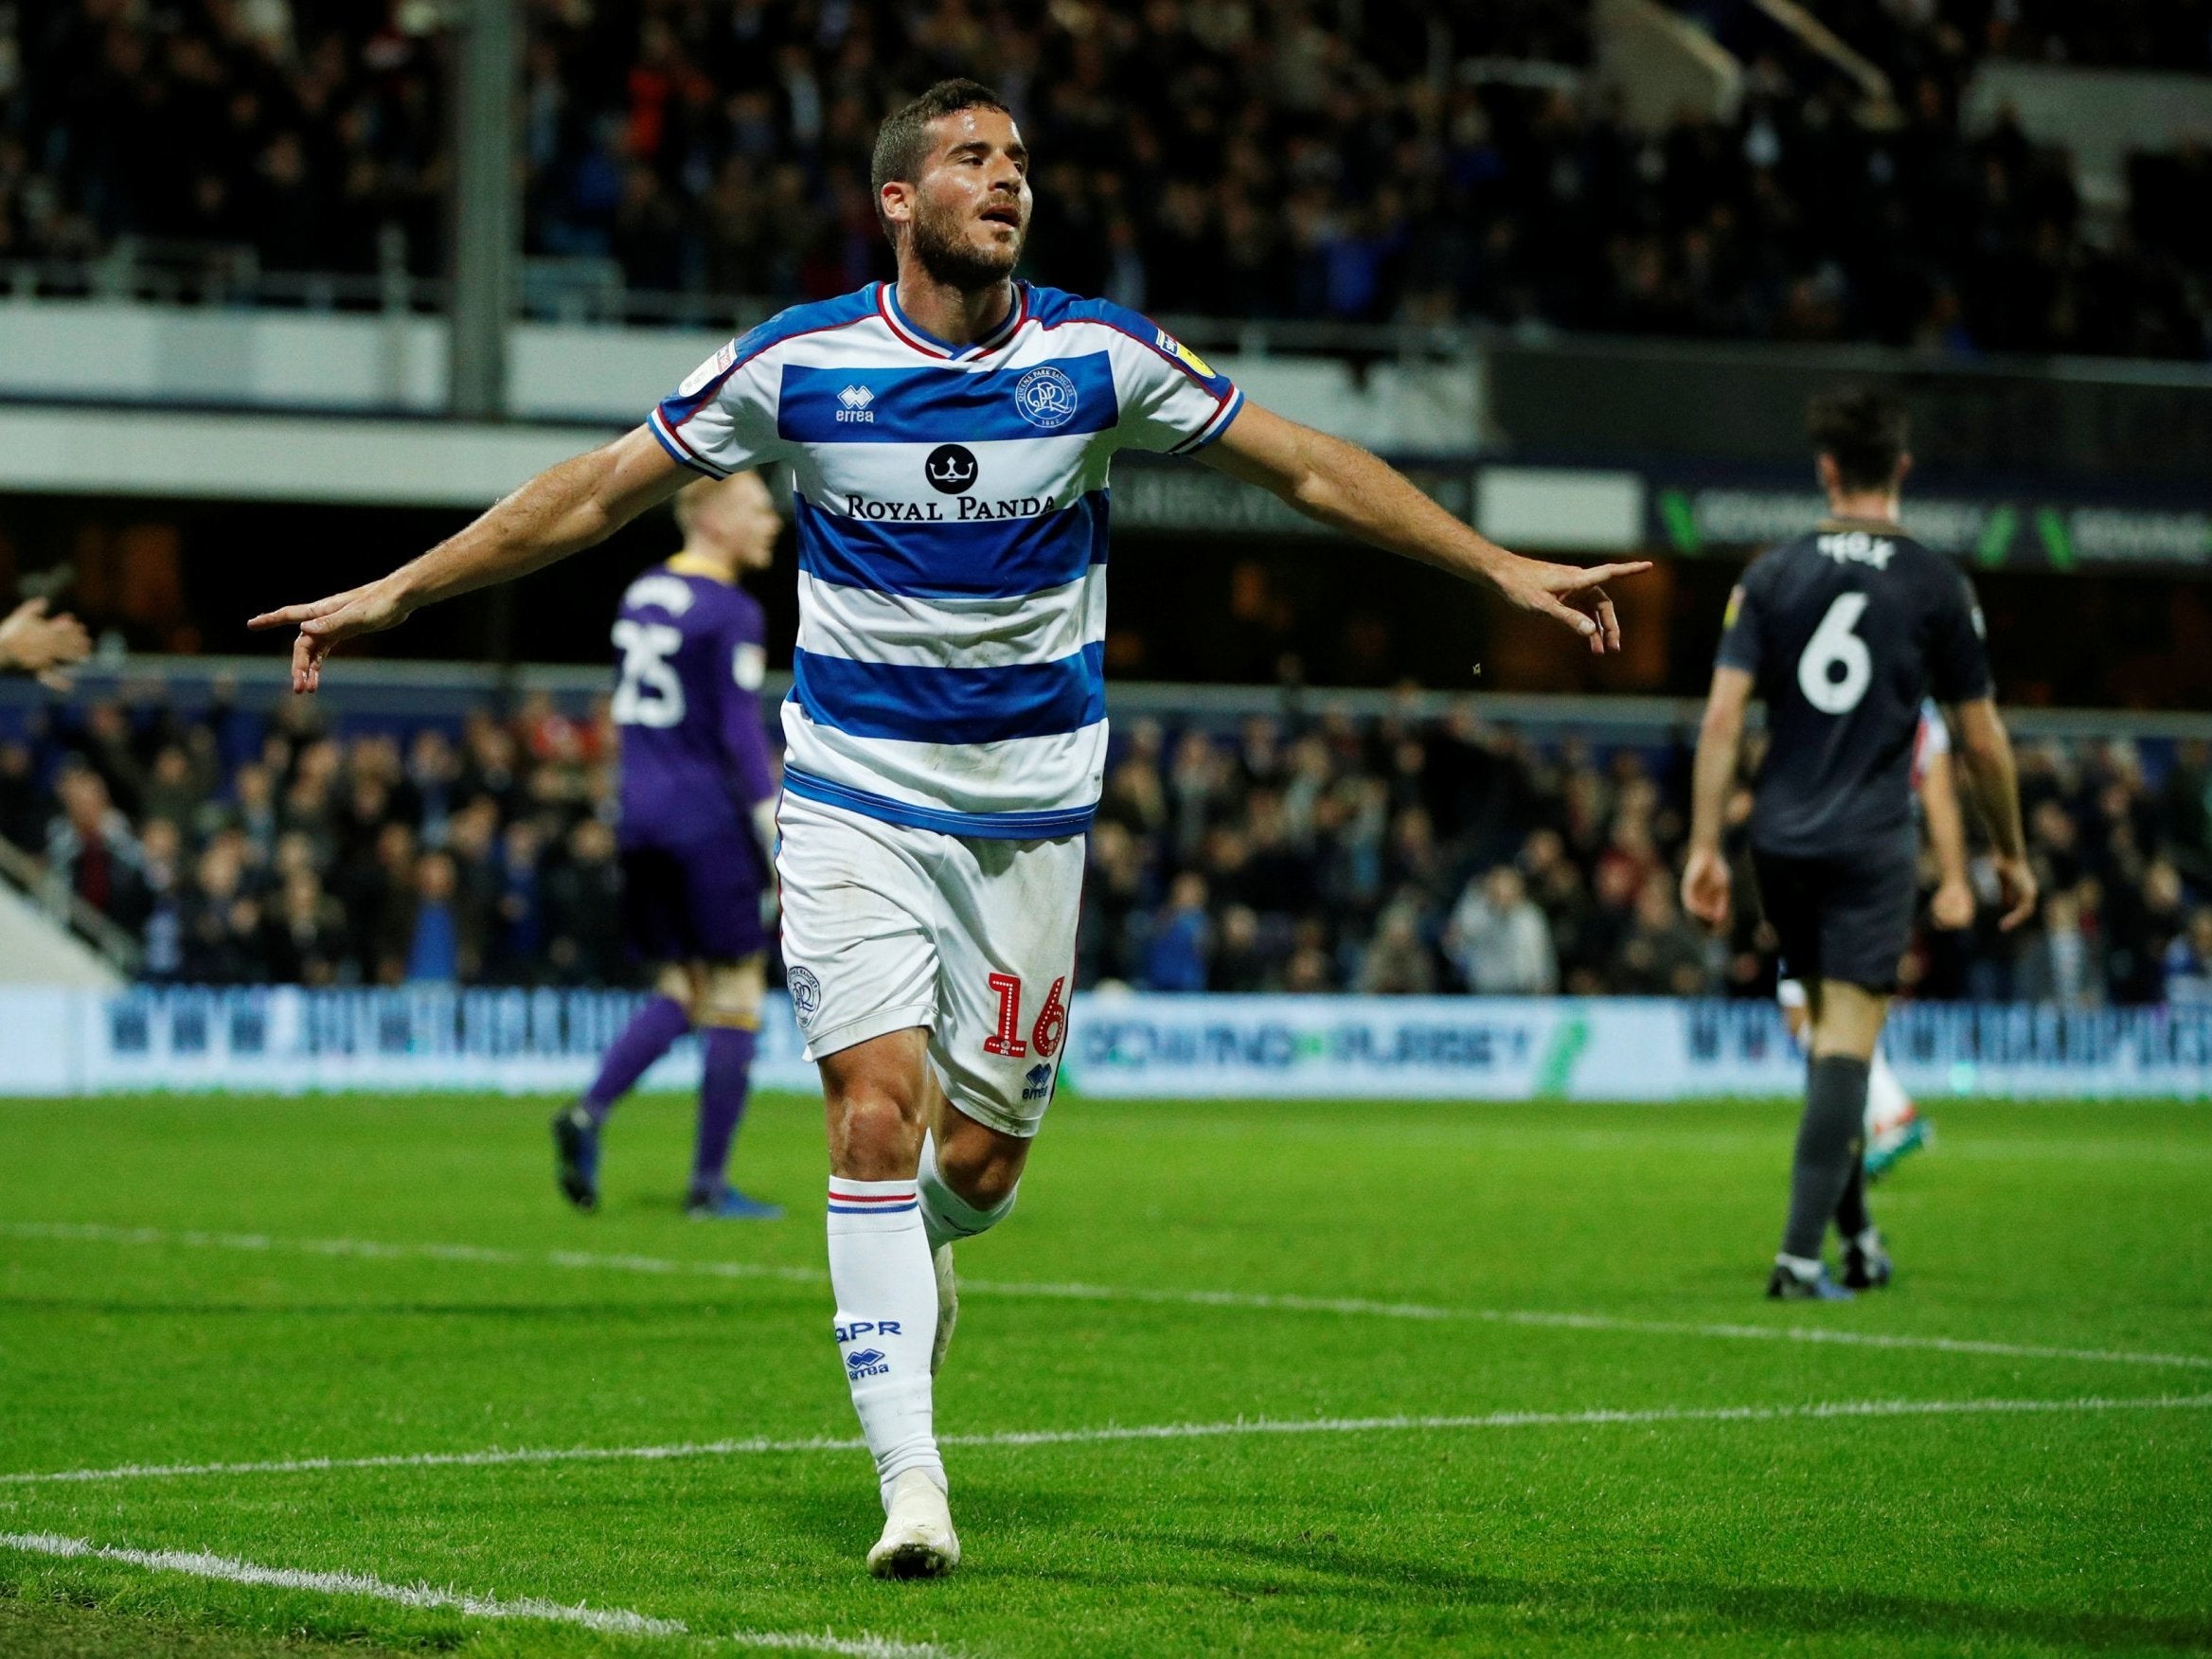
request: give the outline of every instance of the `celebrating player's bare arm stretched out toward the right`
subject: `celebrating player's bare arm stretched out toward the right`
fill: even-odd
[[[1469,582],[1489,582],[1522,611],[1564,622],[1597,657],[1621,648],[1621,624],[1604,584],[1650,568],[1650,560],[1630,560],[1586,571],[1506,553],[1422,495],[1389,462],[1252,403],[1237,411],[1219,442],[1199,451],[1199,460],[1259,484],[1329,529]]]

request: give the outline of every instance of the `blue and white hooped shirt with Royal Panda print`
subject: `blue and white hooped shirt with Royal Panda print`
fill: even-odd
[[[1137,312],[1015,285],[936,341],[891,283],[761,323],[653,411],[686,467],[790,462],[799,648],[783,787],[956,836],[1091,827],[1106,768],[1106,473],[1243,394]]]

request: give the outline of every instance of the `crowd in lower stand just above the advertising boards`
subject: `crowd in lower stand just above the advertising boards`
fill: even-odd
[[[613,759],[604,706],[571,719],[542,695],[458,732],[343,737],[305,701],[265,717],[237,699],[192,717],[53,703],[0,734],[0,836],[135,933],[150,980],[619,984],[637,969],[617,945]],[[1986,909],[1969,933],[1920,929],[1907,989],[2212,998],[2212,745],[2150,759],[2024,745],[2042,916],[2020,936]],[[1130,721],[1091,838],[1077,980],[1765,995],[1756,916],[1712,940],[1677,905],[1686,779],[1683,748],[1535,741],[1473,706]]]

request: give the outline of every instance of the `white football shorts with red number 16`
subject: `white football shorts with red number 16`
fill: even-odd
[[[776,823],[807,1060],[927,1026],[953,1106],[1035,1135],[1068,1042],[1084,836],[967,841],[792,794]]]

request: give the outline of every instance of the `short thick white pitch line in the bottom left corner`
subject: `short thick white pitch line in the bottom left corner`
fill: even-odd
[[[208,1551],[133,1551],[115,1544],[93,1544],[88,1537],[62,1537],[60,1533],[0,1533],[0,1548],[24,1551],[27,1555],[53,1555],[60,1559],[119,1562],[144,1566],[153,1573],[186,1573],[197,1579],[221,1579],[226,1584],[254,1584],[274,1590],[312,1590],[314,1595],[365,1595],[374,1601],[389,1601],[400,1608],[436,1608],[462,1613],[471,1619],[535,1619],[542,1624],[575,1624],[586,1630],[604,1630],[619,1637],[688,1637],[690,1626],[681,1619],[653,1619],[626,1608],[568,1606],[566,1601],[544,1601],[520,1597],[502,1601],[493,1595],[469,1595],[465,1590],[440,1590],[429,1584],[392,1584],[374,1573],[310,1573],[296,1566],[257,1566],[230,1555]],[[790,1648],[799,1652],[841,1652],[860,1659],[947,1659],[945,1648],[927,1641],[894,1641],[889,1637],[838,1637],[834,1632],[814,1635],[810,1630],[734,1630],[710,1641],[734,1641],[752,1648]]]

